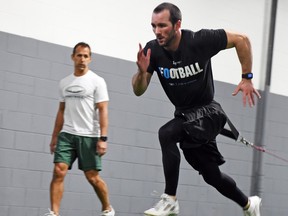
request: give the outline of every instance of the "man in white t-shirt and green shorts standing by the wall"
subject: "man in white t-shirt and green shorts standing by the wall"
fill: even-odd
[[[60,105],[50,144],[54,171],[50,185],[51,210],[46,216],[59,216],[64,178],[78,159],[101,204],[101,216],[114,216],[108,188],[100,177],[101,157],[107,150],[108,91],[105,80],[89,70],[90,46],[78,43],[71,56],[74,73],[60,81]]]

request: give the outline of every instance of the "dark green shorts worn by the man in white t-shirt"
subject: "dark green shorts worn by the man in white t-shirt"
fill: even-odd
[[[78,168],[83,171],[102,170],[101,157],[96,152],[97,137],[85,137],[61,132],[58,135],[54,163],[66,163],[69,169],[76,158]]]

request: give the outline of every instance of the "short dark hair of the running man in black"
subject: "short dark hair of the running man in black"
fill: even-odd
[[[170,12],[169,20],[173,25],[176,24],[178,20],[182,20],[181,11],[176,5],[169,2],[163,2],[153,10],[153,13],[157,14],[162,12],[163,10],[169,10]]]

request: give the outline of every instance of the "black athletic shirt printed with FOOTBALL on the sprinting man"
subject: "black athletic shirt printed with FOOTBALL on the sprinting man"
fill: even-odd
[[[226,48],[223,29],[181,30],[180,45],[175,52],[151,40],[148,72],[157,72],[161,85],[176,108],[188,108],[210,103],[214,98],[211,57]]]

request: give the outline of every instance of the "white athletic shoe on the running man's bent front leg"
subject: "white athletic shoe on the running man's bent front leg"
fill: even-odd
[[[172,216],[179,214],[179,203],[167,194],[161,195],[161,200],[153,207],[144,212],[149,216]]]

